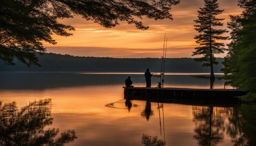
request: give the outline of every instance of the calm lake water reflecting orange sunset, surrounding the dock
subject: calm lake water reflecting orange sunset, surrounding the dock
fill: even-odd
[[[0,145],[256,144],[254,104],[125,105],[128,75],[145,86],[143,73],[0,73]],[[210,88],[209,79],[193,75],[168,73],[165,87]],[[214,88],[223,84],[216,79]]]

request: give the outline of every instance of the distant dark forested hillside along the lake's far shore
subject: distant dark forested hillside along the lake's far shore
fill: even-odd
[[[5,65],[0,61],[0,71],[28,71],[28,72],[144,72],[149,68],[151,72],[160,72],[162,59],[159,58],[110,58],[110,57],[78,57],[55,53],[36,54],[42,67],[31,66],[15,60],[16,65]],[[223,68],[223,58],[216,58],[219,62],[214,66],[214,72]],[[165,72],[209,72],[209,67],[201,67],[200,62],[193,58],[167,58]]]

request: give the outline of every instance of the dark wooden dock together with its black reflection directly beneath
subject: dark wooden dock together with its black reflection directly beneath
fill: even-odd
[[[240,104],[240,89],[124,87],[124,99],[177,104]]]

